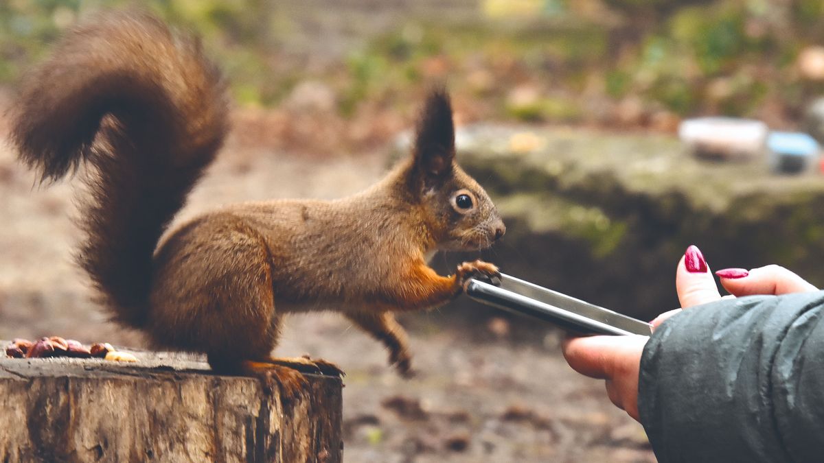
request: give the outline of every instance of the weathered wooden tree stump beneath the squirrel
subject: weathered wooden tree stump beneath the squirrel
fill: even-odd
[[[0,461],[342,461],[339,378],[286,401],[196,356],[135,355],[0,358]]]

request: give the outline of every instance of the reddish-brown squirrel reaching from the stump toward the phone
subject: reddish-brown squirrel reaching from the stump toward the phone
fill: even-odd
[[[421,112],[410,156],[362,193],[331,201],[236,203],[172,219],[229,129],[227,86],[198,40],[144,12],[70,30],[21,83],[12,143],[41,181],[83,162],[85,241],[77,262],[122,325],[153,348],[206,353],[216,372],[268,377],[295,394],[330,362],[274,358],[283,315],[339,311],[411,372],[394,312],[441,305],[494,264],[451,276],[435,250],[480,250],[505,232],[485,190],[457,166],[442,87]]]

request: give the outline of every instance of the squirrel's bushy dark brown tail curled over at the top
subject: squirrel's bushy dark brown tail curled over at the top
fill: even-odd
[[[145,323],[157,241],[221,147],[227,106],[199,42],[142,12],[92,17],[22,82],[20,159],[41,180],[93,167],[77,261],[124,325]]]

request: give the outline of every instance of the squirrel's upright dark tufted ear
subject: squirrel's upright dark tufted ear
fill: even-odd
[[[452,104],[443,88],[432,91],[418,121],[414,142],[414,163],[428,178],[438,178],[452,171],[455,158],[455,125]]]

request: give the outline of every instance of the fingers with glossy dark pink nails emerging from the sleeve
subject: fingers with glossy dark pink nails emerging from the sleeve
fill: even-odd
[[[816,291],[812,284],[778,265],[759,269],[723,269],[717,272],[730,297],[751,294],[785,294]],[[687,248],[678,262],[676,290],[684,309],[721,299],[709,266],[695,246]],[[651,323],[653,329],[683,309],[667,311]],[[606,382],[613,404],[634,419],[638,415],[638,379],[646,336],[591,336],[566,339],[564,358],[577,372]]]

